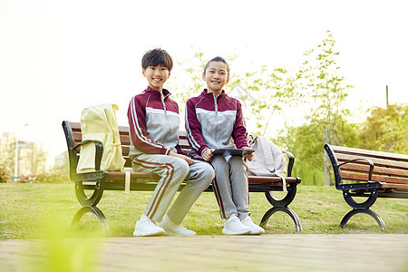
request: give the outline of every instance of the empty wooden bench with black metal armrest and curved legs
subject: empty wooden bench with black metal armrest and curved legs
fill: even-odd
[[[377,198],[408,198],[408,155],[366,151],[325,144],[335,173],[335,189],[343,191],[345,202],[353,208],[340,226],[358,213],[372,216],[382,230],[383,219],[370,207]],[[356,202],[354,197],[366,198]]]

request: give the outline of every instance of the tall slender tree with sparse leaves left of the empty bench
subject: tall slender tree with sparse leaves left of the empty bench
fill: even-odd
[[[296,91],[305,101],[306,120],[322,143],[340,144],[343,135],[338,126],[349,112],[344,108],[345,97],[352,86],[345,84],[336,64],[339,53],[330,31],[316,49],[305,53],[306,61],[296,76]],[[340,132],[340,134],[339,134]],[[323,146],[323,144],[322,144]],[[330,181],[330,163],[324,155],[325,185]]]

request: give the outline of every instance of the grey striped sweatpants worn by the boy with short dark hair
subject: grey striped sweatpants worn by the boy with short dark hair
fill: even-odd
[[[168,217],[176,224],[199,199],[199,195],[214,179],[214,170],[209,163],[199,160],[189,166],[186,160],[160,154],[141,154],[132,160],[133,170],[151,172],[160,175],[160,180],[153,191],[143,214],[155,222],[160,222],[169,209],[171,200],[183,180],[187,185],[167,211]]]

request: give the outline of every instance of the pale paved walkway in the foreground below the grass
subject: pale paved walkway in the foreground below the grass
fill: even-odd
[[[408,235],[263,235],[0,241],[0,271],[408,271]],[[50,258],[44,248],[52,248]],[[88,252],[88,254],[86,254]],[[69,260],[71,259],[71,260]],[[74,260],[74,261],[73,261]],[[65,263],[66,262],[66,263]],[[35,265],[41,269],[34,270]],[[27,268],[27,266],[29,268]],[[43,267],[42,267],[43,266]],[[92,269],[85,269],[91,272]],[[72,270],[80,271],[78,267]]]

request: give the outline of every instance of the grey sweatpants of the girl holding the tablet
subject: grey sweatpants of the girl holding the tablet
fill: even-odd
[[[214,167],[214,193],[219,202],[219,214],[228,219],[235,214],[239,219],[249,215],[247,165],[239,156],[214,156],[210,160]]]

